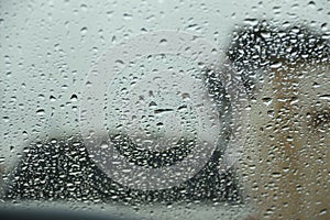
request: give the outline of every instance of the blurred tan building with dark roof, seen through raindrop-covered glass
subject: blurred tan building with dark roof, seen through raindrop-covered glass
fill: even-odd
[[[251,105],[245,199],[261,219],[330,219],[329,35],[260,22],[232,36],[227,54]]]

